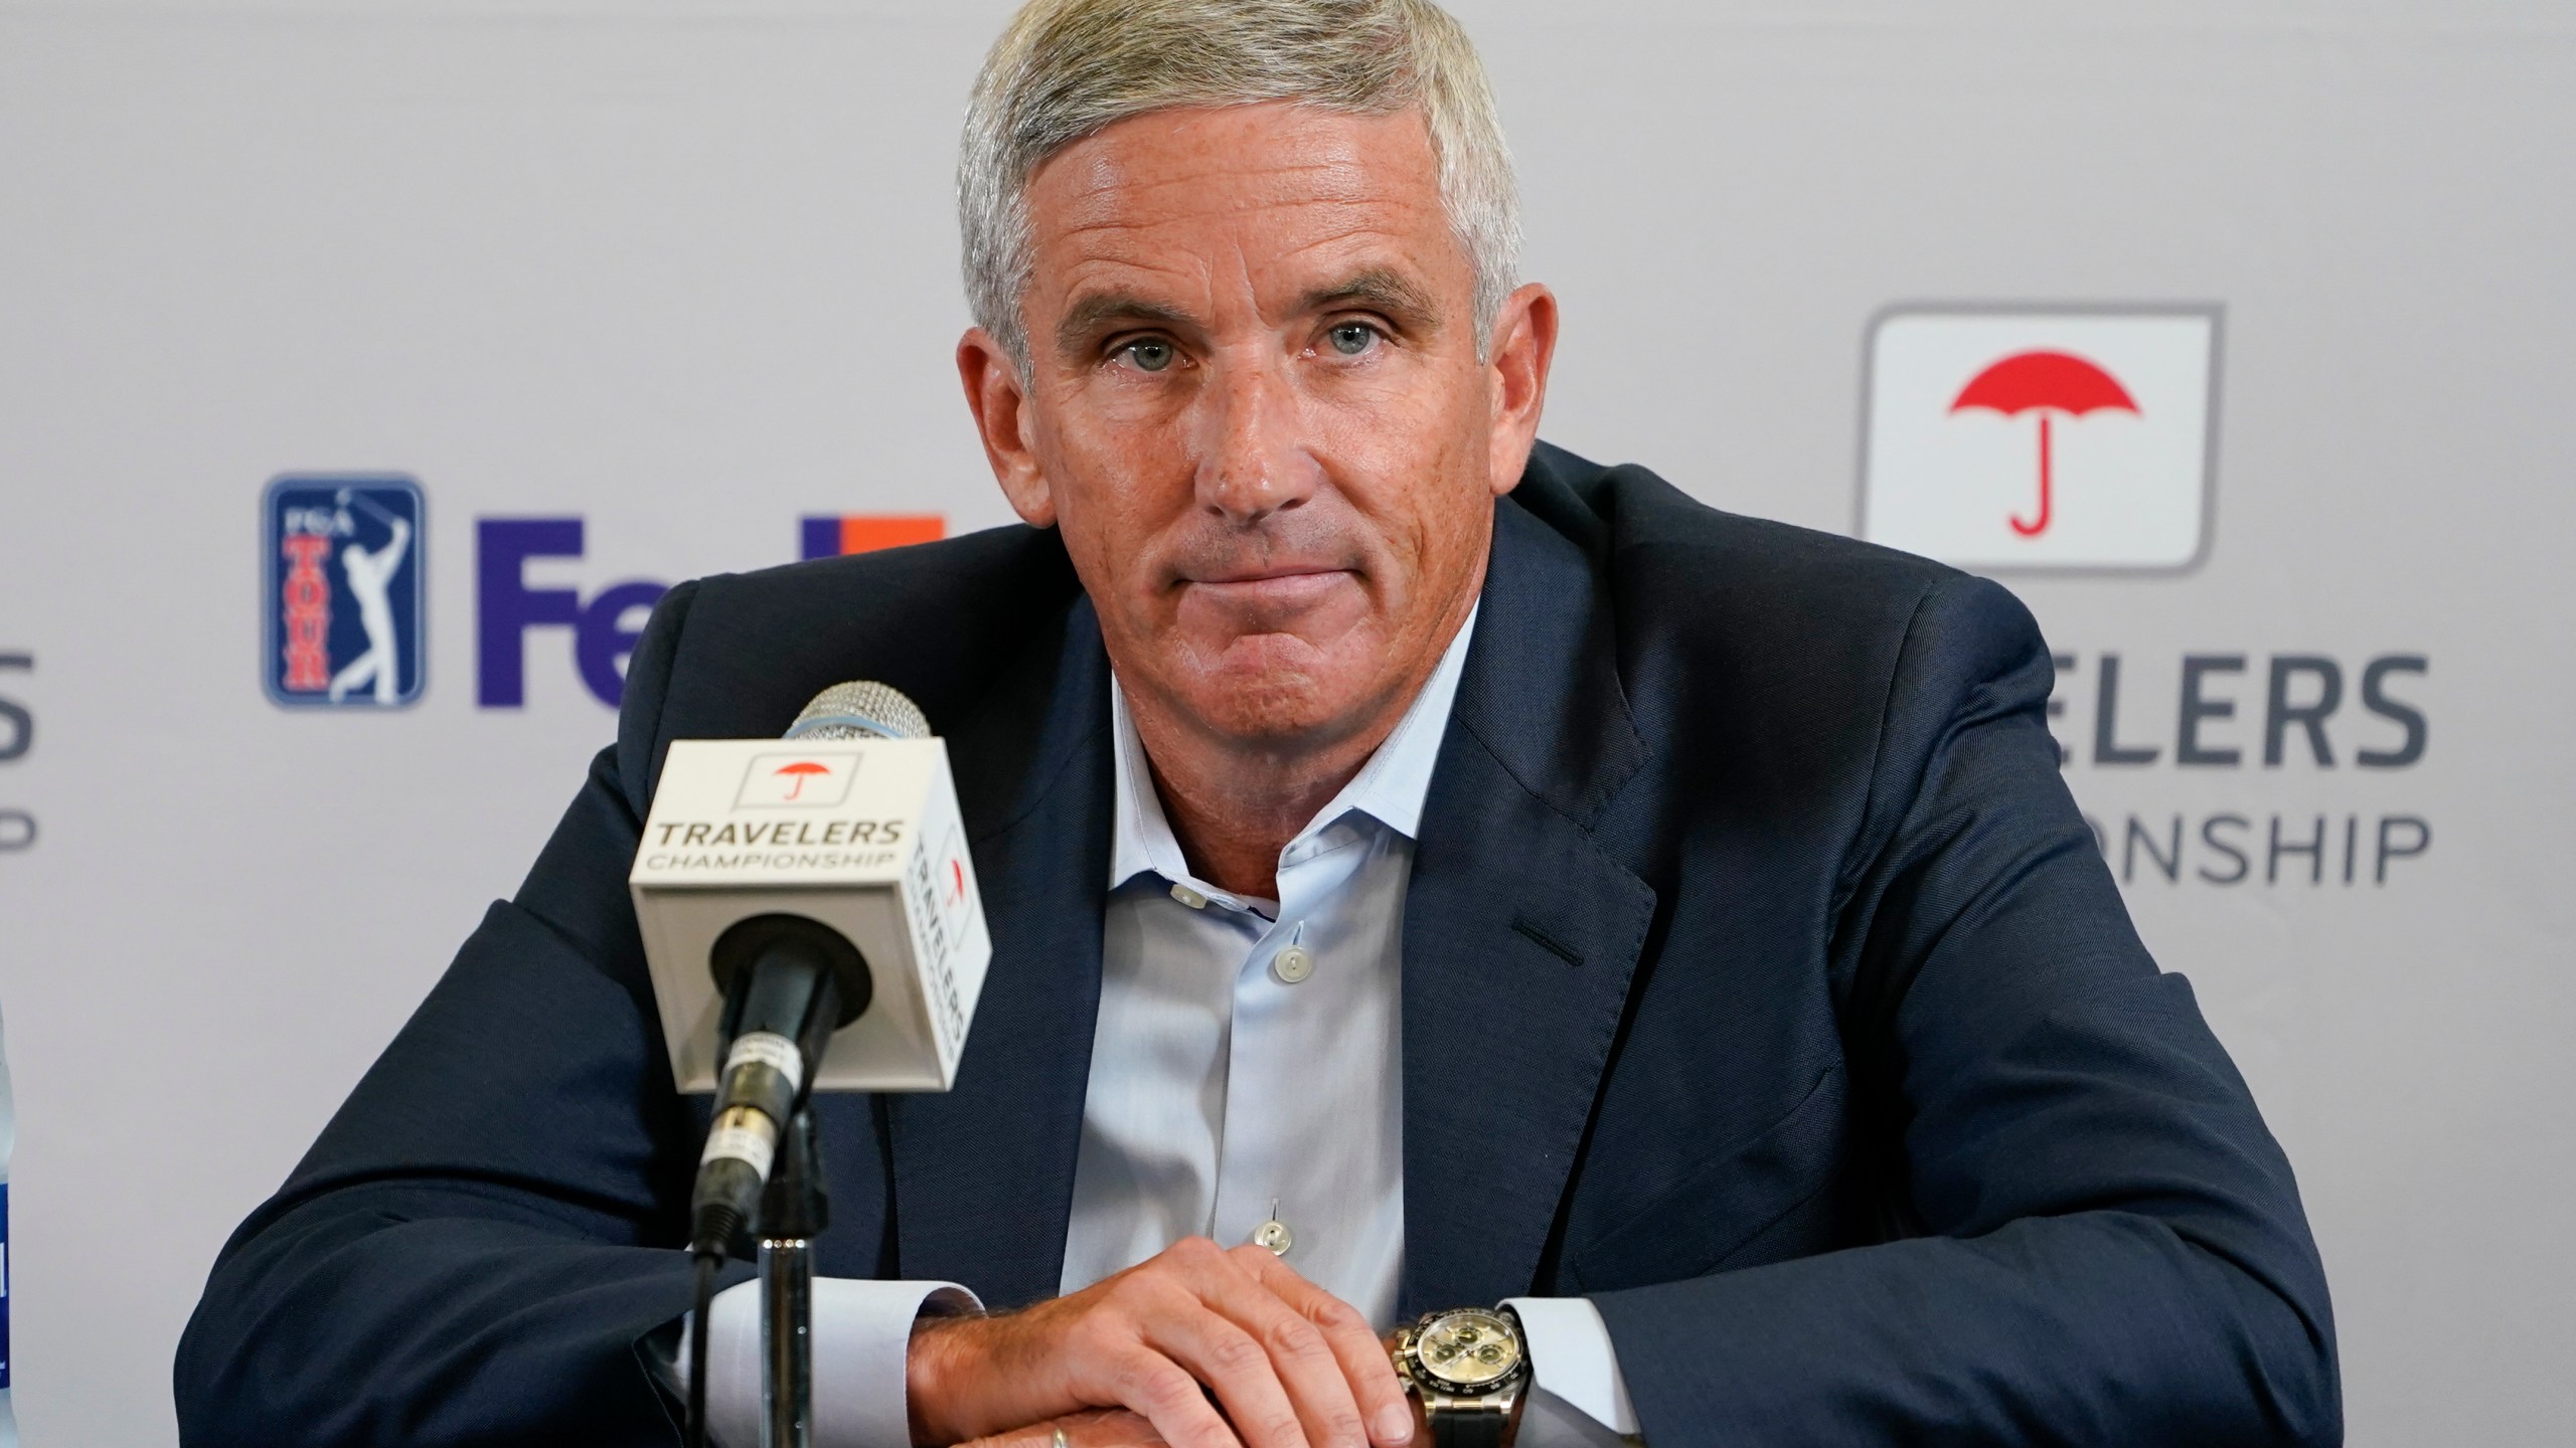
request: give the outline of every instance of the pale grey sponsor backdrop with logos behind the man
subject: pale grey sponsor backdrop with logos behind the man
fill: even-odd
[[[948,356],[1005,10],[0,3],[31,1443],[173,1440],[216,1247],[515,889],[665,587],[1007,520]],[[2030,600],[2300,1170],[2352,1440],[2558,1438],[2576,13],[1458,13],[1546,433]]]

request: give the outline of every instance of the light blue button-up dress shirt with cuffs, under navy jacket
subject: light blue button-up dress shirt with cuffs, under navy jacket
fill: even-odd
[[[1110,683],[1115,835],[1100,1018],[1064,1239],[1066,1293],[1182,1237],[1262,1239],[1394,1327],[1404,1278],[1404,889],[1476,613],[1368,765],[1280,850],[1249,899],[1190,873],[1126,691]],[[814,1443],[909,1448],[904,1353],[956,1283],[814,1283]],[[1453,1304],[1466,1306],[1466,1304]],[[1610,1332],[1584,1299],[1512,1299],[1535,1391],[1525,1448],[1636,1433]],[[680,1355],[685,1363],[688,1355]],[[757,1443],[752,1283],[714,1304],[708,1427]]]

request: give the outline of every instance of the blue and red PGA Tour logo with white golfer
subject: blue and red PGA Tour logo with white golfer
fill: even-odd
[[[281,477],[260,520],[268,698],[289,709],[402,709],[420,698],[420,484]]]

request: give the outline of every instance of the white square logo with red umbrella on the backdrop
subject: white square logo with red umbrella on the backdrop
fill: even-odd
[[[1965,569],[2197,567],[2215,399],[2218,307],[1893,307],[1860,536]]]

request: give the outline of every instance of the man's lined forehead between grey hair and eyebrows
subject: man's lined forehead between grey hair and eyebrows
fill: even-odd
[[[1084,283],[1303,286],[1355,263],[1461,271],[1419,111],[1293,103],[1154,111],[1064,147],[1028,183],[1036,294]]]

